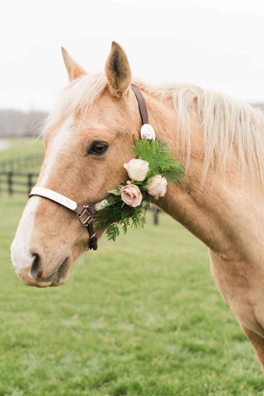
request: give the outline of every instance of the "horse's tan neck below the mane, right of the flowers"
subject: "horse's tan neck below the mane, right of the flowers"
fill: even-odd
[[[242,185],[237,179],[236,153],[230,158],[230,169],[224,178],[209,171],[203,179],[202,134],[195,103],[190,110],[189,154],[172,102],[151,96],[146,103],[149,123],[157,138],[168,143],[177,160],[189,161],[185,185],[169,187],[164,198],[155,204],[220,255],[246,259],[254,256],[254,249],[264,251],[264,244],[256,242],[264,232],[264,200],[258,192],[252,192],[252,186]]]

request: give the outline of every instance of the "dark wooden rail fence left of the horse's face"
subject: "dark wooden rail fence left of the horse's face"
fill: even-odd
[[[42,162],[43,157],[40,156],[0,162],[0,192],[29,194],[36,184],[38,173],[23,172],[23,169],[40,166]]]

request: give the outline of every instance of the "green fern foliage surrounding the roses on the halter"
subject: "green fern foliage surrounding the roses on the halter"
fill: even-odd
[[[166,143],[162,141],[150,143],[146,139],[138,140],[136,138],[134,141],[135,145],[131,149],[134,150],[138,158],[149,163],[149,171],[145,180],[131,181],[140,188],[143,199],[141,204],[135,208],[127,205],[120,195],[120,188],[126,183],[118,185],[115,190],[108,191],[111,194],[105,198],[108,204],[98,212],[95,218],[96,228],[108,227],[106,230],[108,240],[115,241],[119,236],[119,225],[124,233],[127,232],[129,226],[144,228],[146,211],[153,198],[147,192],[147,179],[155,175],[162,175],[170,184],[183,183],[183,165],[173,158]]]

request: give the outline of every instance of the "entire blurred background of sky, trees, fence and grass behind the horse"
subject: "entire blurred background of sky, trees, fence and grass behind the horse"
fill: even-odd
[[[211,278],[207,248],[164,213],[100,241],[61,287],[21,284],[10,244],[36,183],[36,139],[68,84],[112,40],[134,76],[264,103],[263,2],[5,2],[0,23],[0,395],[257,395],[260,366]],[[91,252],[89,252],[91,253]],[[74,275],[73,275],[74,274]]]

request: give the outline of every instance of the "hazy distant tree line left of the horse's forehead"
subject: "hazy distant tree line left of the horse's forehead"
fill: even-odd
[[[21,137],[38,133],[47,117],[40,111],[0,110],[0,137]]]

